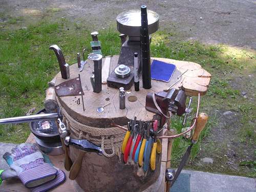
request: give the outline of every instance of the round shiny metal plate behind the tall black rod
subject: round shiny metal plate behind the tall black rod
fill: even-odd
[[[125,35],[140,36],[141,11],[133,9],[124,11],[117,15],[117,30]],[[147,10],[148,33],[155,33],[159,28],[159,15],[151,10]]]

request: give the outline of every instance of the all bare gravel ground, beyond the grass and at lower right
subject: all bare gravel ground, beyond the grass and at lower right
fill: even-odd
[[[204,44],[221,43],[228,46],[256,50],[256,2],[253,0],[0,0],[0,13],[5,15],[1,17],[0,26],[1,23],[7,22],[10,19],[9,17],[23,17],[20,27],[26,27],[31,23],[36,23],[38,20],[49,17],[52,20],[66,18],[75,22],[80,28],[99,30],[110,26],[115,27],[115,18],[118,13],[128,9],[139,8],[142,4],[147,5],[148,9],[159,13],[161,30],[176,32],[176,35],[172,38],[182,40],[195,39]],[[239,74],[239,72],[236,74]],[[246,91],[248,100],[253,104],[255,102],[254,87],[252,86],[251,89],[245,90],[244,85],[252,83],[254,80],[255,73],[250,73],[231,77],[229,82],[234,89],[240,92]],[[253,154],[255,155],[253,148],[247,148],[246,142],[241,145],[238,137],[234,137],[240,132],[240,112],[236,112],[231,108],[209,108],[210,110],[210,115],[216,115],[218,119],[218,127],[211,130],[210,136],[202,142],[201,153],[194,162],[191,162],[191,166],[215,172],[222,172],[227,167],[238,170],[238,162],[241,162],[244,158],[253,159]],[[232,114],[223,115],[227,111],[232,111]],[[226,118],[228,118],[228,121]],[[209,142],[212,140],[214,142]],[[223,150],[220,150],[220,148]],[[243,150],[243,156],[239,155],[241,150]],[[200,158],[212,157],[212,154],[215,156],[214,166],[217,167],[215,169],[212,169],[211,164],[202,165],[200,163]],[[227,163],[221,163],[223,161]]]

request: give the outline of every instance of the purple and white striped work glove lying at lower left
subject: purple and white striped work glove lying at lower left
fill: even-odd
[[[46,163],[41,152],[31,143],[22,143],[12,148],[11,153],[5,153],[3,158],[12,170],[9,172],[12,177],[19,177],[28,188],[44,184],[57,176],[58,170]]]

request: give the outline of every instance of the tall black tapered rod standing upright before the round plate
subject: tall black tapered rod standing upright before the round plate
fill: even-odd
[[[145,5],[141,6],[140,45],[143,88],[151,89],[150,40],[148,38],[147,12]]]

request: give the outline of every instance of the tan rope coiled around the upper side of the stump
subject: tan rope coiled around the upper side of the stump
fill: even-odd
[[[120,147],[125,131],[117,127],[99,128],[82,124],[68,114],[58,99],[57,102],[63,115],[63,122],[66,122],[67,129],[73,136],[79,139],[87,139],[96,145],[101,145],[102,154],[105,157],[110,158],[115,156],[115,154],[120,154]],[[108,154],[105,150],[112,152]]]

